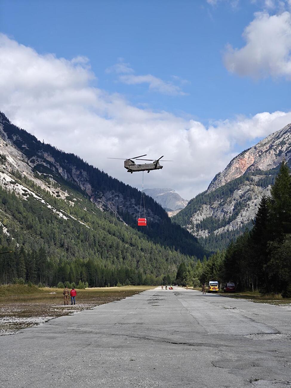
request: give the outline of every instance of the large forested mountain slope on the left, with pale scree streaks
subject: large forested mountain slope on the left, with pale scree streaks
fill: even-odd
[[[151,197],[149,226],[137,227],[140,196],[0,113],[0,250],[13,250],[0,255],[0,282],[170,282],[205,251]]]

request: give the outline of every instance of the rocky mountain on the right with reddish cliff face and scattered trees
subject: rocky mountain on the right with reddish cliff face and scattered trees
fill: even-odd
[[[225,248],[252,227],[262,196],[270,194],[283,159],[290,165],[291,124],[241,152],[218,173],[208,189],[191,199],[173,222],[185,227],[204,248]]]

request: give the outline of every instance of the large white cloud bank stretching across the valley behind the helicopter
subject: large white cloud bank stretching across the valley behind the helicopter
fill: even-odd
[[[205,126],[174,114],[133,106],[119,94],[92,87],[85,59],[40,55],[0,36],[0,110],[38,139],[74,152],[114,177],[140,188],[122,160],[165,155],[163,170],[145,174],[146,187],[171,187],[184,198],[204,190],[246,142],[291,122],[291,113],[260,113]]]

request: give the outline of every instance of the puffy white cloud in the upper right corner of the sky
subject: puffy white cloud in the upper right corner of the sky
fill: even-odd
[[[246,45],[224,55],[226,68],[241,76],[255,78],[285,76],[291,79],[291,14],[270,16],[258,12],[243,33]]]

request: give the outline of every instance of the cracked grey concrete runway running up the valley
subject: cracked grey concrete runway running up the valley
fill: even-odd
[[[288,387],[291,310],[175,287],[0,337],[0,387]]]

